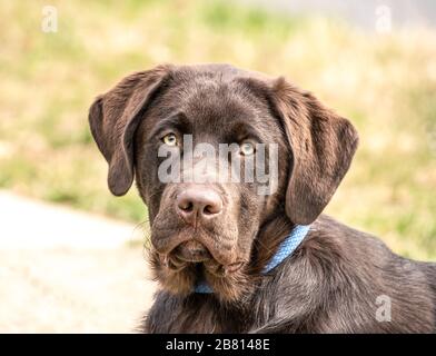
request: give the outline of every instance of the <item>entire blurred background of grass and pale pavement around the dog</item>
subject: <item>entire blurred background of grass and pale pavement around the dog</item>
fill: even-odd
[[[434,1],[0,0],[0,332],[129,332],[147,308],[146,208],[107,190],[87,115],[162,62],[315,92],[360,134],[326,212],[436,260]]]

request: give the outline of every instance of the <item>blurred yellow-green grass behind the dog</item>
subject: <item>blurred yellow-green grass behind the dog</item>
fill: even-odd
[[[230,62],[286,75],[351,119],[360,147],[327,212],[395,251],[436,258],[436,32],[379,36],[231,1],[1,1],[0,187],[141,221],[111,197],[87,111],[125,75],[160,62]]]

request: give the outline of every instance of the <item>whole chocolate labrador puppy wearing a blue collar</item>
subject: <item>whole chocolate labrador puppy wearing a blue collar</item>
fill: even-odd
[[[135,178],[148,207],[161,290],[143,332],[436,330],[436,264],[321,215],[358,137],[310,92],[228,65],[159,66],[99,96],[89,122],[110,191],[126,194]],[[197,169],[187,142],[232,149]],[[266,191],[245,179],[259,145],[259,162],[277,166]],[[241,179],[217,179],[218,164],[228,172],[235,161]],[[178,174],[162,179],[164,166]]]

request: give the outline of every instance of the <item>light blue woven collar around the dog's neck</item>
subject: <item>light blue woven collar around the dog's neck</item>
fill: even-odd
[[[310,225],[296,225],[288,237],[280,244],[270,261],[264,267],[262,274],[266,275],[280,265],[286,257],[290,256],[305,239],[309,229]],[[195,293],[209,294],[214,293],[214,290],[206,281],[200,281],[197,284]]]

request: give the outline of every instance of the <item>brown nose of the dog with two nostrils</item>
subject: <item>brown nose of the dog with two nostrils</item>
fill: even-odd
[[[215,190],[202,187],[189,187],[177,197],[177,209],[188,224],[197,219],[210,219],[222,211],[221,197]]]

